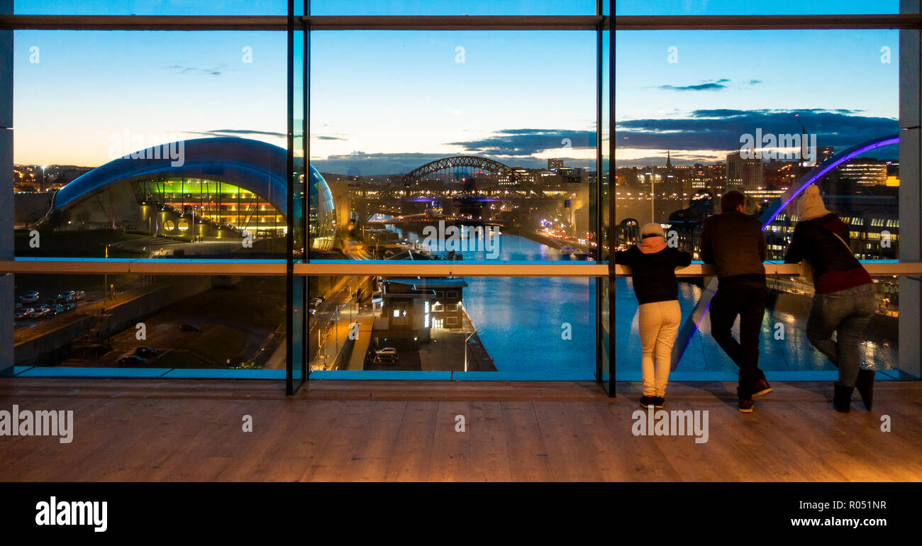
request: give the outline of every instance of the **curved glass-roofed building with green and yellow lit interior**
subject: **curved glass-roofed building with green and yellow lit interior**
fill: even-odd
[[[121,228],[158,235],[280,237],[287,231],[286,150],[239,137],[139,149],[83,174],[53,197],[57,229]],[[330,250],[336,209],[310,168],[312,248]]]

